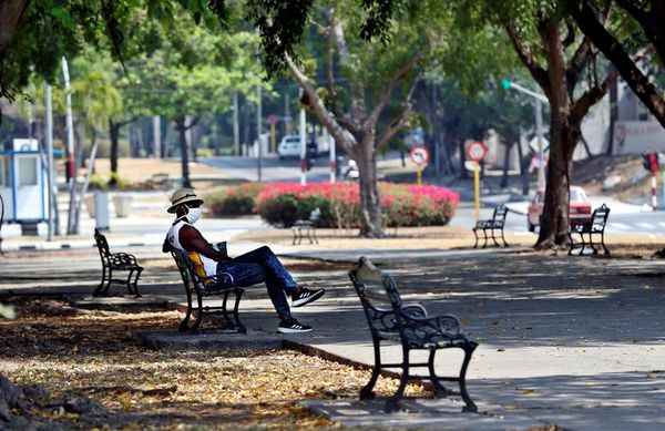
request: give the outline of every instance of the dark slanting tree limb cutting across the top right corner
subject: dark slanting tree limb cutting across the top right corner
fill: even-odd
[[[612,11],[625,13],[626,19],[605,25],[597,19],[598,10],[613,4]],[[649,80],[640,59],[633,57],[646,39],[656,52],[661,71],[665,64],[665,2],[659,0],[566,0],[571,16],[584,34],[614,63],[621,76],[642,103],[665,127],[665,86]],[[635,25],[636,23],[636,25]],[[634,31],[636,28],[641,31]],[[642,39],[642,40],[641,40]]]

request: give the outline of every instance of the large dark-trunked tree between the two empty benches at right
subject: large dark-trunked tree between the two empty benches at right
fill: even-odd
[[[581,124],[591,106],[607,92],[618,75],[604,72],[597,51],[555,0],[504,3],[461,0],[467,16],[501,25],[533,80],[550,102],[550,162],[545,202],[536,248],[567,244],[569,195],[573,152],[581,140]],[[601,22],[606,11],[598,11]],[[581,89],[579,85],[583,85]]]

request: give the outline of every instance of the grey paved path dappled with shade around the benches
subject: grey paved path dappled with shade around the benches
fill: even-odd
[[[0,258],[0,296],[10,290],[90,293],[100,273],[92,250],[8,254]],[[144,294],[182,300],[178,275],[160,264],[164,256],[155,247],[127,250],[152,263],[140,285]],[[316,256],[339,261],[320,268],[291,260],[298,280],[328,289],[295,312],[315,326],[310,335],[277,335],[265,290],[249,289],[242,304],[248,337],[286,338],[370,365],[369,332],[346,275],[362,253],[319,249]],[[379,401],[307,401],[309,408],[349,427],[665,428],[665,263],[491,250],[381,250],[372,258],[398,277],[407,300],[457,314],[480,342],[469,369],[469,392],[483,414],[461,413],[454,398],[409,401],[409,412],[396,414],[382,413]],[[391,348],[388,355],[399,357],[400,350]],[[444,357],[441,366],[456,359]]]

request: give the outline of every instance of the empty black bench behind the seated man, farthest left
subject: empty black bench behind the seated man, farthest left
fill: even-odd
[[[126,285],[130,295],[140,297],[137,284],[143,267],[136,263],[136,257],[127,253],[111,253],[106,237],[98,228],[94,229],[94,242],[102,259],[102,281],[92,295],[108,295],[111,284],[117,283]],[[126,278],[113,278],[113,271],[127,271],[129,274]]]

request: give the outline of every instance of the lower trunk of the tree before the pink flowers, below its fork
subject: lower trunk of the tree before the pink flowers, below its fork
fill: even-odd
[[[364,134],[356,158],[360,187],[360,236],[382,238],[385,233],[374,143],[375,133]]]

